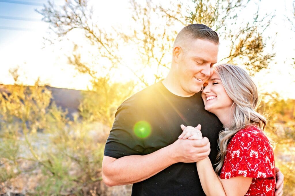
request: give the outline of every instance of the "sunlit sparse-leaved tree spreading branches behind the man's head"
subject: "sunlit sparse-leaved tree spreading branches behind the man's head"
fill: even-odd
[[[176,26],[191,23],[211,26],[222,38],[230,41],[229,54],[222,61],[242,62],[251,74],[267,68],[275,54],[264,51],[266,39],[262,34],[273,16],[261,18],[258,6],[253,21],[238,25],[242,20],[238,13],[248,2],[218,0],[213,3],[210,0],[193,0],[189,5],[171,2],[171,8],[166,9],[152,1],[139,3],[132,0],[130,5],[134,22],[130,24],[130,31],[114,27],[112,32],[106,32],[103,27],[94,23],[93,9],[86,0],[65,1],[59,9],[49,2],[38,12],[44,16],[43,20],[50,24],[50,29],[59,39],[80,29],[85,38],[98,49],[94,56],[108,59],[111,64],[109,71],[114,71],[113,68],[118,66],[126,67],[133,72],[140,84],[148,86],[162,79],[169,70],[170,53],[178,29]],[[237,30],[228,26],[237,26]],[[135,56],[137,66],[124,64],[124,56],[118,52],[127,44],[136,45],[138,49],[137,54],[130,54]],[[95,72],[91,66],[75,64],[75,67],[92,76]],[[97,67],[104,69],[102,65]],[[148,77],[144,69],[146,67],[153,70]],[[154,80],[148,81],[147,78],[150,77]]]

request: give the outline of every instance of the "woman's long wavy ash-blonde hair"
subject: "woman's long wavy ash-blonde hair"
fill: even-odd
[[[217,154],[218,174],[222,168],[227,145],[230,139],[242,128],[248,125],[257,125],[261,130],[266,126],[266,118],[256,112],[260,103],[257,87],[249,74],[242,68],[231,64],[219,64],[214,66],[214,72],[219,76],[222,85],[227,92],[232,104],[232,121],[229,127],[219,133]]]

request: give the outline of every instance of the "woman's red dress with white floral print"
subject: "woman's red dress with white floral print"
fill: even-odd
[[[274,167],[273,149],[267,137],[258,127],[248,126],[230,140],[219,177],[251,177],[246,195],[274,195]]]

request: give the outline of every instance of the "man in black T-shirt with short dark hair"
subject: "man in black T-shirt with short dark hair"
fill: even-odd
[[[215,163],[222,124],[204,110],[200,89],[212,75],[218,45],[209,27],[184,27],[168,76],[121,104],[104,151],[106,185],[133,184],[132,195],[204,195],[195,162],[209,155]],[[204,138],[178,139],[181,124],[201,124]]]

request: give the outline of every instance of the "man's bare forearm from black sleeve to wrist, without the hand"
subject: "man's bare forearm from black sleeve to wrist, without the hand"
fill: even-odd
[[[176,163],[169,146],[148,155],[130,155],[114,159],[104,157],[102,178],[107,186],[143,181]]]

